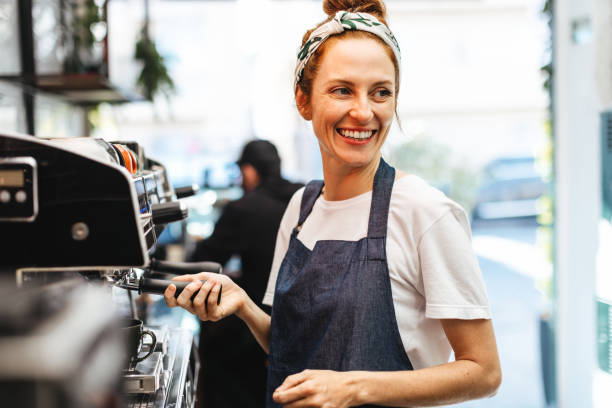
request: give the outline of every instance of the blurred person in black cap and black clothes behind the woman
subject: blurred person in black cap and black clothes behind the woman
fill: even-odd
[[[196,243],[189,260],[223,265],[238,255],[242,267],[236,282],[265,307],[260,302],[270,274],[278,226],[291,196],[302,184],[281,177],[277,149],[266,140],[248,142],[237,164],[244,195],[223,208],[212,235]],[[240,319],[232,316],[221,323],[201,325],[199,405],[263,406],[266,353]]]

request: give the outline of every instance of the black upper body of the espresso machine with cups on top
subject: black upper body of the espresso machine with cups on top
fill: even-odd
[[[147,265],[178,204],[136,143],[0,134],[0,269]]]

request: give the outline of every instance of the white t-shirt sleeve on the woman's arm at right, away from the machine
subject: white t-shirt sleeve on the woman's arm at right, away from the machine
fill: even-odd
[[[491,312],[465,212],[450,209],[423,233],[419,258],[431,319],[490,319]]]

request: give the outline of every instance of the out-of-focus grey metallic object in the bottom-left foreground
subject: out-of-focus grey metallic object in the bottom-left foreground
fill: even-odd
[[[116,394],[125,354],[107,290],[0,285],[0,405],[91,408]]]

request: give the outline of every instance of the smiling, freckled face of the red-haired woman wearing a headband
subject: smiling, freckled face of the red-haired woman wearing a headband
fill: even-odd
[[[378,158],[389,133],[395,112],[395,69],[374,39],[328,41],[312,82],[310,103],[300,104],[305,98],[298,90],[298,107],[305,119],[312,120],[324,162],[363,167]]]

